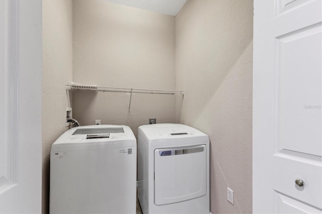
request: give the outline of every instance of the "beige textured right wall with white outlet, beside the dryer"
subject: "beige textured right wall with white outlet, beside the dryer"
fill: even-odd
[[[253,1],[188,0],[177,15],[181,123],[209,135],[212,213],[252,212],[252,57]]]

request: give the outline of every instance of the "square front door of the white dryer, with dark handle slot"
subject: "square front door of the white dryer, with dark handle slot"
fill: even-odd
[[[207,193],[207,147],[154,150],[154,203],[176,203]]]

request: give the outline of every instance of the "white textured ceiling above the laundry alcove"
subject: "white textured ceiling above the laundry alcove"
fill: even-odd
[[[106,0],[111,3],[176,16],[187,0]]]

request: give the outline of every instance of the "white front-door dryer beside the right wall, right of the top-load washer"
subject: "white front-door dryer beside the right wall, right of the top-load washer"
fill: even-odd
[[[181,124],[138,129],[142,212],[209,214],[209,138]]]

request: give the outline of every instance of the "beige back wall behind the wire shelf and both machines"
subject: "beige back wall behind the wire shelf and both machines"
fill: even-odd
[[[73,1],[73,81],[81,84],[175,89],[175,18],[102,0]],[[149,118],[175,122],[176,95],[73,90],[81,125],[128,125],[137,137]]]

